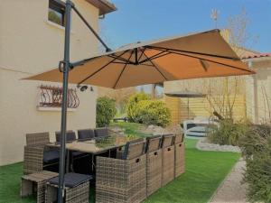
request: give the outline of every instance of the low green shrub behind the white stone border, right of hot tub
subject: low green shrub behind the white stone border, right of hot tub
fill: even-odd
[[[245,136],[247,131],[248,125],[246,123],[234,124],[232,120],[221,120],[219,126],[210,125],[207,136],[210,143],[237,146],[239,140]]]

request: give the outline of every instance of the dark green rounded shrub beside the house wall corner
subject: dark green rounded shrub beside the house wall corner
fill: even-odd
[[[110,124],[110,120],[117,113],[115,100],[109,97],[99,97],[96,106],[96,125],[104,127]]]

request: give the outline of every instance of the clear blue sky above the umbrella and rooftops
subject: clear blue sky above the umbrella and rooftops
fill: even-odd
[[[248,34],[256,42],[248,49],[271,52],[271,0],[111,0],[117,12],[100,20],[100,33],[112,48],[166,36],[215,28],[211,9],[220,11],[218,28],[245,8]]]

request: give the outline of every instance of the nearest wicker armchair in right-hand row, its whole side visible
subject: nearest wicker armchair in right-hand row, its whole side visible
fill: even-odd
[[[97,157],[96,202],[133,203],[146,198],[145,140],[126,144],[122,159]]]

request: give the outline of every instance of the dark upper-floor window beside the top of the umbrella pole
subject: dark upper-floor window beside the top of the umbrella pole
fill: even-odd
[[[48,20],[61,26],[65,25],[65,6],[49,0]]]

